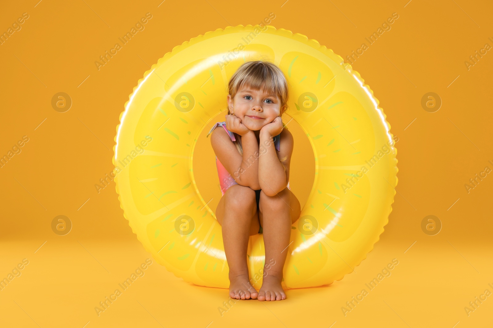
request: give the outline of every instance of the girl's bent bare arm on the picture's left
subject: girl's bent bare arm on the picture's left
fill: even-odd
[[[224,129],[214,129],[211,134],[214,153],[235,181],[253,190],[258,183],[258,144],[253,131],[242,136],[243,156]]]

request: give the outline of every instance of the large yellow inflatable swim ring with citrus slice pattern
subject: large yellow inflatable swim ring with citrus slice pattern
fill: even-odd
[[[351,65],[305,35],[227,27],[176,46],[152,65],[117,126],[113,164],[121,208],[145,249],[177,277],[229,287],[221,226],[197,188],[193,155],[201,132],[226,114],[229,78],[250,60],[282,69],[290,88],[284,124],[294,119],[315,155],[315,181],[292,226],[282,287],[329,285],[352,272],[384,231],[397,150],[373,91]],[[259,289],[263,235],[250,238],[247,263]]]

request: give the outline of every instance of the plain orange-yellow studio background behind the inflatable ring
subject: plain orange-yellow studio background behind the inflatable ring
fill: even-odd
[[[493,285],[493,178],[488,174],[469,193],[464,187],[486,166],[493,169],[488,162],[493,162],[492,51],[469,70],[464,64],[485,43],[493,46],[491,3],[160,2],[1,5],[0,32],[29,14],[21,30],[0,45],[0,155],[29,137],[0,168],[0,278],[29,261],[0,291],[1,327],[491,325],[492,297],[469,316],[464,310],[486,289],[493,292],[488,285]],[[152,19],[145,29],[98,70],[99,56],[147,12]],[[282,302],[240,301],[221,316],[218,307],[228,299],[227,290],[189,284],[153,261],[98,316],[94,307],[151,258],[123,217],[114,183],[99,194],[94,187],[113,169],[115,128],[129,94],[176,45],[210,30],[258,24],[271,12],[276,17],[269,25],[316,39],[345,59],[362,43],[368,45],[352,67],[374,91],[390,132],[399,137],[399,182],[386,231],[343,280],[289,290]],[[399,18],[391,29],[369,45],[365,37],[394,12]],[[52,108],[57,92],[70,95],[69,111]],[[437,112],[422,108],[427,92],[442,99]],[[307,159],[308,141],[297,142],[290,186],[303,206],[314,161],[313,154]],[[215,170],[211,149],[204,148],[203,156],[202,168]],[[220,195],[217,185],[198,183],[204,194]],[[66,236],[51,230],[57,215],[73,224]],[[435,236],[421,230],[427,215],[442,223]],[[394,258],[399,264],[391,275],[344,316],[346,301]]]

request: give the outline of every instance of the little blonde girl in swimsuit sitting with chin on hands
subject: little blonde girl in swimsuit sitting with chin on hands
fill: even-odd
[[[289,188],[293,137],[283,128],[288,85],[268,61],[247,61],[229,81],[228,115],[209,131],[223,194],[215,215],[229,266],[229,295],[281,300],[282,269],[300,203]],[[222,128],[215,129],[221,126]],[[215,129],[215,130],[214,130]],[[209,136],[208,134],[208,136]],[[257,292],[246,264],[249,236],[263,233],[265,264]]]

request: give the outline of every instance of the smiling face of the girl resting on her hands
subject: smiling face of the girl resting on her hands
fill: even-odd
[[[278,95],[246,86],[234,98],[228,94],[229,112],[242,120],[252,130],[260,130],[281,113],[281,99]]]

